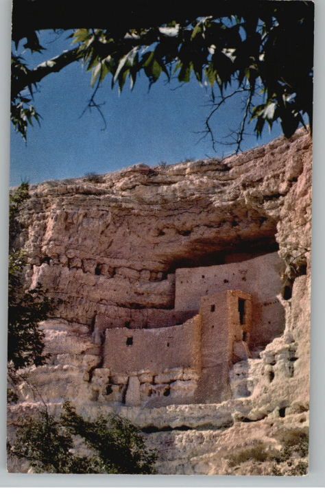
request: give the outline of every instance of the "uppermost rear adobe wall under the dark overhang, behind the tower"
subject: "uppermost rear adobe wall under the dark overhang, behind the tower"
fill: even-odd
[[[285,266],[277,252],[248,261],[202,268],[176,270],[176,311],[200,309],[200,298],[223,292],[243,290],[252,294],[252,333],[250,346],[264,346],[285,327],[285,311],[278,301]]]

